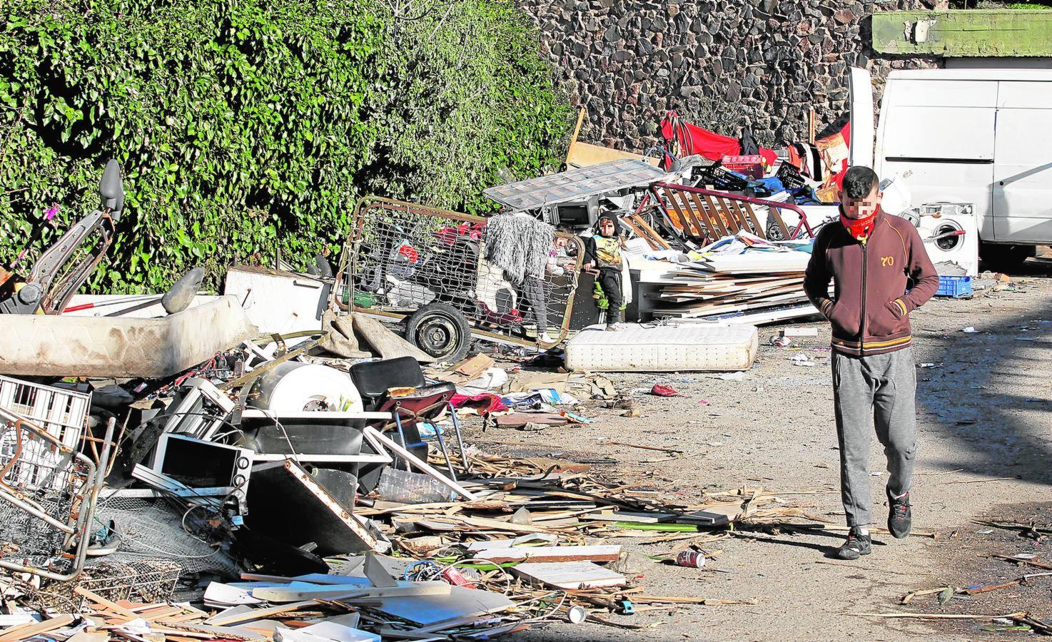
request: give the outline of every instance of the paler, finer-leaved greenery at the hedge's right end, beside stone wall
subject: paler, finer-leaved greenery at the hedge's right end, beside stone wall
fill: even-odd
[[[367,105],[387,165],[363,181],[370,191],[479,213],[495,205],[482,188],[555,164],[573,113],[510,0],[384,8],[387,65]]]

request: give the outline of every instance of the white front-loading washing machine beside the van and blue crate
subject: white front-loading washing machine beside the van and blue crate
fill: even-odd
[[[939,274],[979,271],[979,230],[971,203],[925,203],[904,212],[913,221]]]

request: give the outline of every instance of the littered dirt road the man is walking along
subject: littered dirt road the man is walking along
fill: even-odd
[[[913,314],[917,370],[918,458],[913,488],[914,529],[937,539],[890,536],[874,539],[873,554],[859,562],[827,557],[842,534],[790,534],[743,531],[708,544],[716,555],[705,569],[658,565],[639,580],[648,593],[755,599],[750,606],[690,606],[610,620],[648,626],[625,630],[598,624],[558,624],[532,630],[524,640],[957,640],[993,638],[989,623],[929,623],[876,620],[859,613],[1000,614],[1031,610],[1052,617],[1052,577],[1028,586],[962,597],[938,606],[935,596],[899,604],[907,593],[951,583],[968,586],[1018,578],[1015,565],[993,554],[1026,552],[1052,560],[1052,544],[1035,542],[972,520],[995,515],[1026,519],[1043,510],[1047,525],[1052,482],[1052,262],[1031,261],[1013,287],[969,301],[933,299]],[[816,339],[775,348],[767,340],[777,328],[761,329],[760,357],[743,380],[714,375],[613,375],[619,390],[670,384],[685,396],[639,394],[642,416],[590,409],[587,426],[550,428],[541,433],[476,429],[472,437],[520,440],[534,449],[507,448],[515,455],[612,457],[614,465],[593,472],[624,483],[648,482],[669,497],[696,500],[705,490],[755,488],[778,491],[833,491],[787,496],[843,523],[838,455],[832,416],[829,331]],[[965,327],[977,333],[965,333]],[[813,367],[794,365],[805,354]],[[708,403],[700,403],[700,401]],[[616,446],[604,439],[671,446],[686,452],[674,460],[661,453]],[[648,463],[649,462],[649,463]],[[874,520],[886,517],[883,453],[873,440]],[[1043,503],[1045,502],[1045,503]],[[1038,516],[1040,519],[1041,516]],[[645,554],[670,545],[641,546]],[[1039,571],[1039,569],[1038,569]],[[649,627],[651,626],[652,627]],[[1015,634],[1019,635],[1019,634]]]

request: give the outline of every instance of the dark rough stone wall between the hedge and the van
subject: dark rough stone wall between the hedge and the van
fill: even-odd
[[[764,145],[806,141],[843,125],[848,67],[866,66],[878,100],[891,69],[942,66],[870,47],[875,11],[931,8],[920,0],[519,0],[541,29],[572,104],[587,109],[580,140],[643,151],[661,142],[668,109]]]

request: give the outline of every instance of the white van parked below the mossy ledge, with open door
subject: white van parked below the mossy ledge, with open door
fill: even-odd
[[[913,206],[973,204],[992,264],[1052,245],[1052,69],[892,71],[873,149],[855,145],[872,140],[869,73],[851,89],[852,163],[902,177]]]

